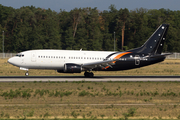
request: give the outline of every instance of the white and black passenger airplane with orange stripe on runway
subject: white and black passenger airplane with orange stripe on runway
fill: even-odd
[[[92,71],[119,71],[155,64],[164,61],[168,54],[162,54],[169,25],[162,24],[139,48],[124,52],[84,50],[28,50],[8,59],[8,62],[27,71],[29,69],[50,69],[59,73],[81,73],[94,77]]]

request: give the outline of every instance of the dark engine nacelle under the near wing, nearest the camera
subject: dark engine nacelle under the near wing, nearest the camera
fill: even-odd
[[[64,64],[64,72],[65,73],[81,73],[82,66],[73,64],[73,63],[66,63]]]

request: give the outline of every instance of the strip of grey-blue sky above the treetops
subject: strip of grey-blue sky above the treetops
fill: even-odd
[[[120,8],[134,10],[141,7],[180,10],[180,0],[0,0],[0,4],[13,8],[33,5],[44,9],[50,8],[56,12],[59,12],[60,9],[70,11],[75,7],[97,7],[98,10],[103,11],[108,10],[111,4],[114,4],[118,10]]]

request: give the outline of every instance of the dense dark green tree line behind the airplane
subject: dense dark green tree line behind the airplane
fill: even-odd
[[[164,52],[180,52],[180,11],[169,9],[74,8],[67,12],[34,6],[14,9],[0,4],[4,51],[31,49],[116,51],[141,46],[162,24],[170,25]],[[2,44],[3,32],[0,34]],[[0,45],[2,51],[2,45]]]

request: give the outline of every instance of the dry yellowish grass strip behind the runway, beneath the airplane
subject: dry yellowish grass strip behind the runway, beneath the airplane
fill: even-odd
[[[0,75],[3,76],[12,76],[12,75],[23,75],[26,71],[19,70],[18,67],[15,67],[9,63],[7,63],[8,59],[0,59]],[[180,60],[179,59],[167,59],[164,62],[157,63],[154,65],[132,69],[132,70],[125,70],[125,71],[94,71],[95,76],[111,76],[111,75],[180,75]],[[74,76],[84,76],[84,73],[74,73],[74,74],[67,74],[67,73],[57,73],[55,70],[29,70],[29,74],[31,76],[37,75],[52,75],[52,76],[67,76],[67,75],[74,75]]]

